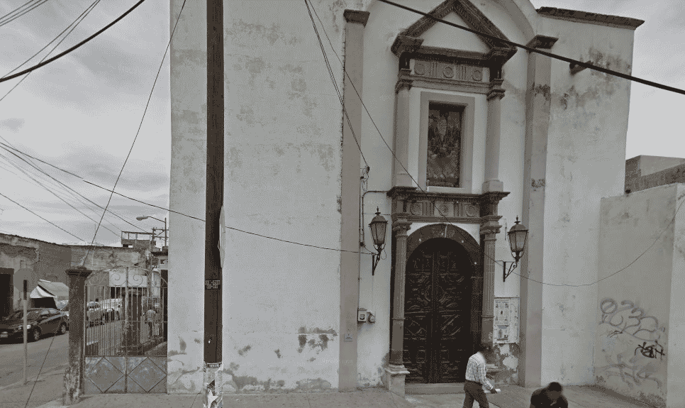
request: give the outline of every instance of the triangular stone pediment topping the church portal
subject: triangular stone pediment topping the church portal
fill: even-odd
[[[506,35],[469,0],[445,0],[428,14],[495,38],[508,40]],[[439,23],[428,16],[419,18],[406,30],[401,31],[395,38],[391,50],[397,56],[415,52],[424,55],[459,55],[463,52],[470,57],[494,60],[492,62],[499,64],[506,62],[516,53],[516,48],[512,45]]]

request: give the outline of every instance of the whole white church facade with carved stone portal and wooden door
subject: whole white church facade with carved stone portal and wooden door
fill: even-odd
[[[262,236],[225,231],[223,392],[458,387],[482,341],[496,382],[594,383],[589,284],[630,82],[498,39],[630,74],[642,21],[399,4],[488,36],[377,0],[224,4],[225,226]],[[203,370],[204,223],[186,215],[205,211],[204,3],[171,50],[168,390],[184,393]]]

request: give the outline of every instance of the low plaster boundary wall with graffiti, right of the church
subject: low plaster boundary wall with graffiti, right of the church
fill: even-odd
[[[683,269],[676,268],[683,265],[683,240],[676,231],[683,230],[685,213],[676,210],[685,202],[684,187],[655,187],[601,202],[598,279],[604,280],[594,310],[594,376],[598,385],[653,407],[683,406],[682,341],[671,326],[676,333],[683,330]]]

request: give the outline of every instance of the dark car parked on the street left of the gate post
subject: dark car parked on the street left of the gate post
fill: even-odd
[[[0,340],[23,338],[23,316],[23,310],[17,310],[0,321]],[[49,307],[28,309],[26,323],[28,341],[38,341],[47,333],[67,333],[67,316]]]

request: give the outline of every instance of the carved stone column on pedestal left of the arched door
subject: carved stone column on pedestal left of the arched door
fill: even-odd
[[[399,190],[413,191],[416,187],[408,189],[393,189],[388,193],[393,197]],[[395,196],[396,197],[396,196]],[[402,351],[404,348],[404,297],[405,297],[405,272],[407,260],[407,231],[411,226],[408,221],[409,214],[406,211],[406,202],[403,197],[393,199],[393,211],[391,215],[392,231],[395,236],[395,282],[392,319],[392,340],[390,344],[390,361],[385,369],[385,384],[390,392],[404,396],[404,379],[409,371],[404,367]]]

